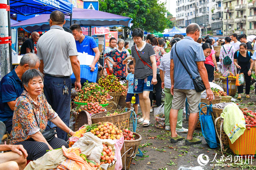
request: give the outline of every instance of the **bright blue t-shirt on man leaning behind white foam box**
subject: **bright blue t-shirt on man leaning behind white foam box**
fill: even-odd
[[[76,41],[76,50],[80,53],[88,53],[89,55],[95,56],[95,53],[93,51],[93,48],[96,48],[97,43],[93,37],[85,36],[83,41],[80,43],[79,41]]]

